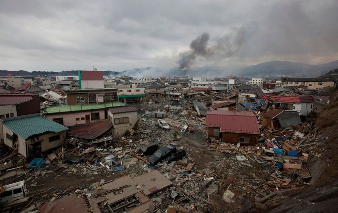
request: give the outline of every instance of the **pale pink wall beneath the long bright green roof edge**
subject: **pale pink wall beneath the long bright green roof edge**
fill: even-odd
[[[105,110],[94,110],[94,111],[80,111],[80,112],[70,112],[70,113],[61,113],[61,114],[46,114],[44,115],[46,118],[53,120],[53,118],[63,118],[63,126],[74,126],[77,124],[86,123],[85,115],[89,114],[90,121],[92,121],[91,113],[99,112],[100,120],[105,119]],[[81,120],[81,117],[84,118]],[[76,120],[76,118],[80,118],[80,120]]]

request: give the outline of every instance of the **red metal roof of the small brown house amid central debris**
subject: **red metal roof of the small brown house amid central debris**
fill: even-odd
[[[221,132],[260,134],[256,115],[251,111],[208,111],[206,125]]]

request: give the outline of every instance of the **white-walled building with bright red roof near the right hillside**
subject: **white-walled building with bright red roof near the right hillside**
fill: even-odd
[[[274,96],[264,95],[262,100],[270,102],[272,108],[297,111],[299,115],[308,115],[313,111],[314,99],[309,95],[301,96]]]

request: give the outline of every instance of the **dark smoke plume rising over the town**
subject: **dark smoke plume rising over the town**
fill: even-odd
[[[190,43],[190,50],[180,53],[177,60],[179,69],[189,69],[197,56],[207,59],[224,59],[234,55],[245,42],[246,33],[243,28],[234,30],[208,45],[209,33],[203,33]]]

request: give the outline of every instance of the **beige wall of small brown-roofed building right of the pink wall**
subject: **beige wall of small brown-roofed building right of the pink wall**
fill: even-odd
[[[113,134],[114,134],[115,137],[120,137],[124,134],[124,132],[126,130],[130,130],[131,128],[133,128],[135,123],[138,120],[137,111],[112,114],[112,112],[108,110],[108,117],[113,123],[113,126],[114,126],[113,127]],[[114,119],[120,118],[120,117],[129,117],[129,123],[116,124],[115,125]]]

